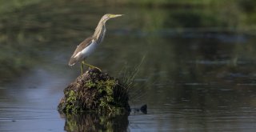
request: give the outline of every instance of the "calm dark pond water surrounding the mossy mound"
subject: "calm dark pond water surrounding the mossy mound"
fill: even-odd
[[[253,34],[213,30],[204,27],[205,22],[201,23],[204,30],[198,25],[187,27],[182,22],[186,9],[107,7],[93,11],[102,6],[54,4],[58,10],[46,2],[10,11],[6,14],[10,18],[2,21],[0,60],[5,63],[0,66],[0,131],[256,129]],[[34,9],[39,11],[30,11]],[[206,9],[190,10],[203,19],[199,14]],[[132,69],[145,57],[130,93],[130,106],[147,104],[147,114],[59,114],[62,90],[79,74],[79,66],[67,66],[68,59],[106,12],[126,16],[107,23],[106,39],[88,62],[117,76],[123,66]]]

